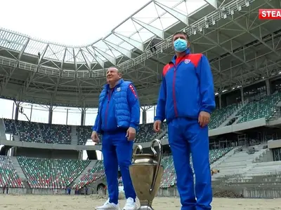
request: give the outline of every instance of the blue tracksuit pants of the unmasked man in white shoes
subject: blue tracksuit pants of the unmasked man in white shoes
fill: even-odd
[[[103,164],[110,202],[118,203],[118,165],[122,174],[126,198],[136,200],[136,193],[133,189],[129,165],[131,165],[133,153],[133,141],[128,141],[125,132],[103,134],[102,143]]]

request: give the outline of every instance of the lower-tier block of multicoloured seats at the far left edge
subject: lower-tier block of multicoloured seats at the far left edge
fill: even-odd
[[[5,185],[10,188],[25,188],[10,157],[0,155],[0,188]]]

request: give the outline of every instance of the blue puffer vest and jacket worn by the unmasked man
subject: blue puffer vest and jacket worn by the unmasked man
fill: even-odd
[[[137,130],[140,116],[141,107],[136,88],[130,81],[120,79],[113,90],[110,90],[107,84],[100,93],[98,115],[93,131],[103,134],[103,132],[114,132],[119,128],[134,127]],[[111,122],[107,122],[107,119]]]

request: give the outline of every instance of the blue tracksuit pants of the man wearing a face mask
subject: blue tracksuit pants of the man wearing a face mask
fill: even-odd
[[[176,118],[168,124],[168,135],[181,197],[181,210],[211,209],[208,127],[200,127],[197,119]],[[190,153],[195,171],[195,188]]]

